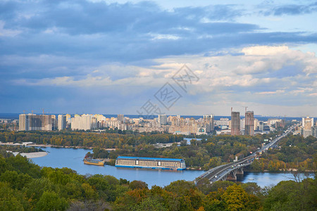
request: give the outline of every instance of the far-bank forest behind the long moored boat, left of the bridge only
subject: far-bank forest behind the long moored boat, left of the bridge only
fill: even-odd
[[[223,162],[231,162],[235,155],[243,157],[261,147],[263,139],[275,134],[257,136],[209,136],[189,145],[183,136],[173,134],[99,134],[85,132],[0,132],[1,142],[32,141],[54,146],[82,146],[116,148],[108,156],[118,155],[143,157],[184,158],[187,167],[209,169]],[[180,142],[178,146],[175,142]],[[155,148],[154,143],[175,143],[170,148]],[[104,153],[105,154],[105,153]]]

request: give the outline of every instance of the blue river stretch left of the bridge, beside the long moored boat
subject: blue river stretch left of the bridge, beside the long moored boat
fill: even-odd
[[[82,161],[86,153],[92,150],[73,149],[73,148],[42,148],[48,155],[41,158],[32,158],[33,162],[39,166],[46,167],[68,167],[75,170],[79,174],[107,174],[116,177],[117,179],[123,178],[130,181],[141,180],[145,181],[149,187],[166,186],[172,181],[184,179],[192,181],[199,177],[202,171],[170,171],[170,170],[145,170],[145,169],[130,169],[130,168],[117,168],[110,165],[95,166],[85,165]]]

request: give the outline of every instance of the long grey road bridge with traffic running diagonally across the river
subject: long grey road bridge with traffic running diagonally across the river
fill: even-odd
[[[200,179],[208,179],[211,184],[215,181],[220,181],[220,180],[237,180],[237,174],[244,174],[243,168],[247,167],[248,165],[251,165],[253,160],[258,156],[260,156],[262,153],[268,150],[268,148],[275,148],[280,141],[280,139],[284,138],[292,132],[292,129],[294,127],[290,127],[285,131],[281,136],[277,136],[273,141],[270,143],[266,144],[262,148],[260,148],[258,151],[252,153],[251,155],[242,158],[240,160],[237,160],[236,162],[230,162],[225,165],[220,165],[218,167],[214,167],[213,169],[204,172],[204,174],[201,174],[201,176],[197,177],[194,182],[197,183]],[[259,154],[259,155],[257,155]]]

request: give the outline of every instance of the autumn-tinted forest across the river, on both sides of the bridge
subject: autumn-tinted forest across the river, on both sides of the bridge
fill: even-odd
[[[111,133],[116,132],[116,133]],[[119,131],[107,133],[85,132],[0,132],[1,142],[32,141],[37,144],[54,146],[93,147],[94,158],[111,158],[114,164],[118,155],[183,158],[187,167],[209,170],[226,162],[232,162],[235,156],[245,157],[255,152],[264,139],[274,139],[278,132],[256,136],[201,136],[201,141],[192,140],[190,144],[182,141],[183,136],[173,134],[119,134]],[[178,146],[177,143],[180,143]],[[154,143],[174,143],[168,148],[156,148]],[[104,150],[116,148],[116,151]],[[280,148],[264,153],[249,170],[316,170],[317,139],[309,136],[288,135],[280,141]]]

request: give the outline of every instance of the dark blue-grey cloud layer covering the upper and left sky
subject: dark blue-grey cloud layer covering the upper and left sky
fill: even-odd
[[[316,6],[316,3],[274,6],[265,15],[313,13]],[[214,55],[213,51],[252,45],[317,42],[317,34],[268,32],[260,23],[240,23],[237,18],[248,12],[240,8],[237,5],[211,5],[164,10],[147,1],[137,4],[85,0],[1,1],[0,109],[19,110],[21,103],[28,98],[32,101],[29,108],[40,103],[42,107],[49,106],[56,101],[63,110],[68,106],[62,106],[65,99],[70,105],[77,106],[83,98],[92,98],[89,92],[94,92],[96,98],[116,97],[118,101],[113,101],[114,104],[129,97],[131,101],[136,98],[121,95],[120,91],[129,89],[125,87],[120,87],[119,91],[114,88],[105,91],[68,88],[65,91],[63,87],[46,87],[43,84],[39,86],[41,88],[18,84],[23,79],[33,82],[37,79],[73,77],[77,80],[109,63],[144,68],[157,64],[156,58],[208,56]],[[116,80],[135,74],[132,70],[121,74],[116,71],[107,70],[106,76]],[[287,67],[270,74],[282,79],[296,75],[297,71],[297,68]],[[269,75],[259,74],[259,77]],[[266,88],[256,89],[266,91]],[[13,103],[14,106],[10,106]]]

